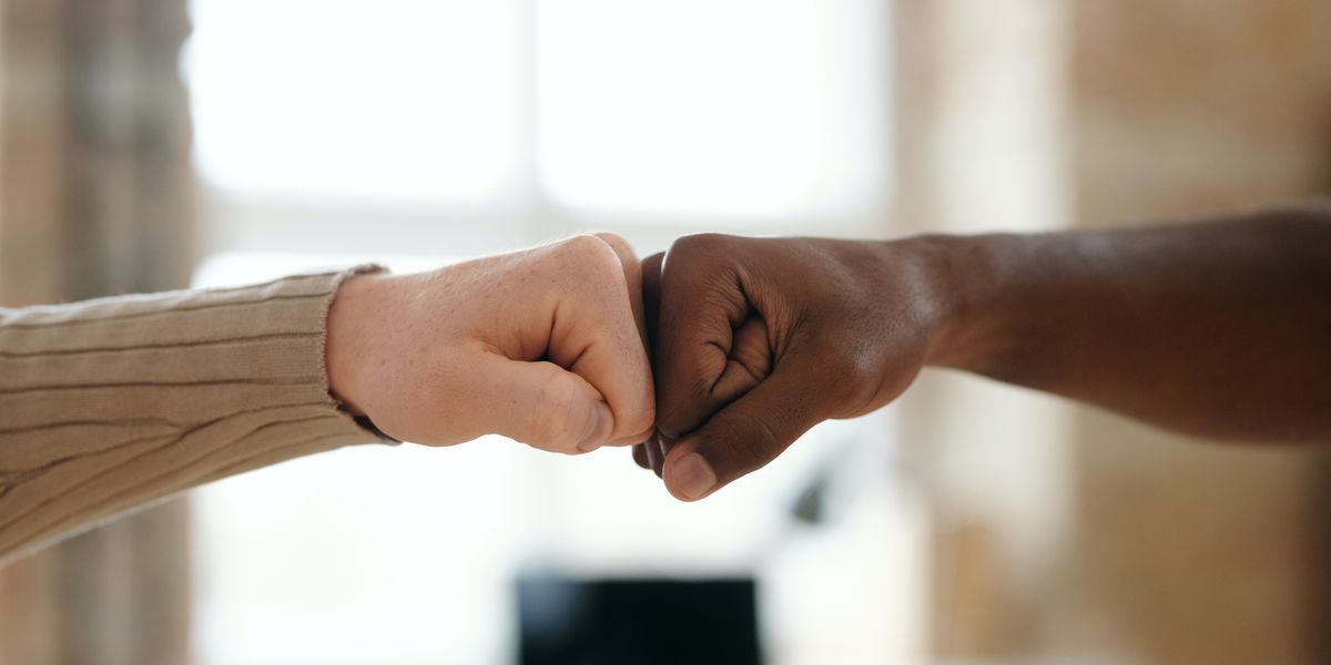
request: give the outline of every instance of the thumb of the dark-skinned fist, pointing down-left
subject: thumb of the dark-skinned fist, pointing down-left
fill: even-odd
[[[756,471],[831,416],[829,391],[812,386],[816,367],[788,358],[753,390],[675,443],[666,458],[666,487],[696,501]]]

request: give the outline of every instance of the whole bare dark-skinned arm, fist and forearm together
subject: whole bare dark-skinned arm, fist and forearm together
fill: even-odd
[[[681,500],[878,408],[926,366],[1236,442],[1331,442],[1331,207],[1111,231],[680,238],[644,261]]]

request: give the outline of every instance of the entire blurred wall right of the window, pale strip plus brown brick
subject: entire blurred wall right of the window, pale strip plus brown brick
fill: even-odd
[[[1331,4],[897,3],[909,230],[1102,226],[1328,193]],[[934,653],[1324,662],[1324,455],[1190,442],[970,376],[900,403]]]

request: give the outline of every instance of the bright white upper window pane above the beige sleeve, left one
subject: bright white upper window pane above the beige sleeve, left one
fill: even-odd
[[[194,0],[205,180],[318,200],[484,197],[511,170],[503,0]]]

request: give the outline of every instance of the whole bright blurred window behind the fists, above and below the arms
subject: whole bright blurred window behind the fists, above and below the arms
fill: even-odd
[[[193,17],[204,286],[586,229],[643,253],[703,229],[882,234],[881,0],[193,0]],[[216,483],[194,501],[197,661],[504,662],[531,569],[756,576],[772,662],[901,661],[922,634],[920,523],[888,431],[819,427],[703,505],[627,451],[499,438]],[[816,473],[844,508],[801,529],[789,507]]]

